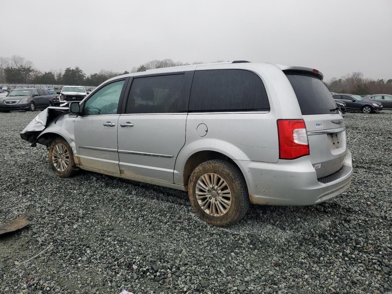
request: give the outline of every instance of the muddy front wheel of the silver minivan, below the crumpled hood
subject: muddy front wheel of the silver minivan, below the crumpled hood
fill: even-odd
[[[71,146],[64,138],[57,137],[50,144],[49,163],[56,176],[61,178],[69,178],[76,173]]]

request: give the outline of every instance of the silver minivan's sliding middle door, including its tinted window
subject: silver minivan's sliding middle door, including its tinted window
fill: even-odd
[[[118,120],[118,157],[125,178],[173,183],[185,144],[193,72],[134,78]]]

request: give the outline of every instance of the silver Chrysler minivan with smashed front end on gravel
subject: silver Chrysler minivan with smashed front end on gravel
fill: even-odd
[[[314,205],[352,178],[343,116],[316,69],[245,61],[111,78],[49,107],[21,136],[49,147],[60,177],[78,169],[188,191],[226,226],[250,203]]]

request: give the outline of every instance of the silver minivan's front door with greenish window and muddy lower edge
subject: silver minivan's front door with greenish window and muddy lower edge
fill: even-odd
[[[117,128],[120,98],[126,80],[104,85],[83,106],[82,116],[75,118],[74,138],[78,164],[120,173],[117,153]]]

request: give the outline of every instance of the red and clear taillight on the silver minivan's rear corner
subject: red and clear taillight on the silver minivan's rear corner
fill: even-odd
[[[278,120],[279,159],[309,155],[308,136],[303,120]]]

